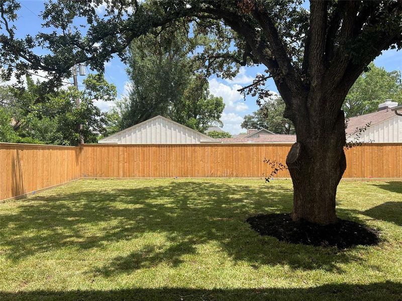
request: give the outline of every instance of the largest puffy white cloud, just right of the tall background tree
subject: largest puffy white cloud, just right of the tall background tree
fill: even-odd
[[[242,112],[248,109],[243,96],[237,91],[242,86],[234,84],[232,87],[218,82],[216,78],[209,80],[210,91],[215,96],[221,96],[225,102],[225,110]]]

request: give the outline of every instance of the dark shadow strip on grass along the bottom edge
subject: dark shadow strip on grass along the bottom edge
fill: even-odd
[[[402,284],[375,282],[365,285],[325,284],[310,288],[127,288],[117,290],[21,291],[2,292],[0,299],[8,300],[275,300],[275,301],[329,301],[329,300],[400,300]]]

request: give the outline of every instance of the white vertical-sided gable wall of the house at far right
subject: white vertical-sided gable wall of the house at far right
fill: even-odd
[[[348,140],[356,140],[351,138]],[[370,125],[362,133],[361,142],[402,142],[402,116],[385,119],[381,122]]]

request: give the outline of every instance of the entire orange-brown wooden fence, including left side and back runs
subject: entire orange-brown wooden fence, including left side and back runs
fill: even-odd
[[[264,158],[285,162],[291,144],[0,143],[0,200],[78,178],[260,178]],[[346,151],[344,178],[402,178],[402,143],[368,143]],[[288,178],[280,171],[279,178]]]

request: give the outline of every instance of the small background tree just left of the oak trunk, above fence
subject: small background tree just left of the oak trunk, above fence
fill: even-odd
[[[273,97],[264,102],[253,114],[245,115],[242,128],[266,128],[276,134],[294,134],[293,123],[283,117],[285,103],[281,97]]]

